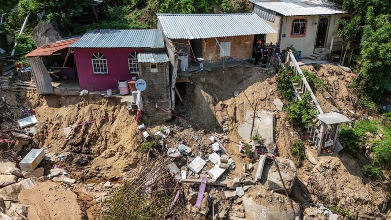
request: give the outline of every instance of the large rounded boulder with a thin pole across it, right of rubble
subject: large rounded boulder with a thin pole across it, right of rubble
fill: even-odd
[[[292,160],[282,157],[276,157],[276,161],[280,168],[285,187],[288,191],[288,194],[290,194],[296,179],[295,163]],[[270,190],[285,193],[284,186],[282,185],[281,178],[274,162],[272,164],[265,164],[261,182],[265,183],[266,187],[268,187]]]

